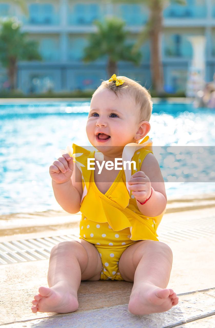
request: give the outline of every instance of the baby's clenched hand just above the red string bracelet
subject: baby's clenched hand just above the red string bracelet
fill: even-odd
[[[148,199],[151,195],[151,182],[144,172],[138,171],[131,176],[128,181],[129,190],[141,203]]]

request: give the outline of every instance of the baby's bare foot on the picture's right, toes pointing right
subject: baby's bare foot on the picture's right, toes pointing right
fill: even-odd
[[[160,313],[178,304],[179,298],[172,289],[162,289],[153,284],[145,283],[142,288],[131,293],[128,309],[132,314],[144,315]]]

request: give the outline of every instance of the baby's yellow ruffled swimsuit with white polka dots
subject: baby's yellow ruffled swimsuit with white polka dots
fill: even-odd
[[[141,145],[136,148],[132,157],[136,162],[136,170],[133,170],[133,165],[130,172],[120,170],[111,187],[102,194],[94,182],[94,171],[87,170],[87,158],[95,158],[95,152],[73,144],[73,156],[82,172],[83,184],[80,238],[97,248],[103,265],[102,280],[123,280],[118,270],[118,261],[124,250],[135,241],[158,240],[156,229],[163,213],[157,217],[144,216],[138,209],[134,195],[130,198],[126,187],[126,175],[131,176],[140,171],[145,156],[152,153],[151,150],[141,148]],[[130,151],[131,148],[128,154]]]

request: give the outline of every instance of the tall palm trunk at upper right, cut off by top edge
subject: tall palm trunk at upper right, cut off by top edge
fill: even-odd
[[[163,69],[160,49],[160,37],[163,31],[163,10],[171,3],[185,5],[185,0],[111,0],[114,3],[140,3],[149,9],[149,19],[140,32],[138,42],[134,47],[137,51],[147,38],[150,40],[150,69],[152,84],[158,95],[163,94]]]

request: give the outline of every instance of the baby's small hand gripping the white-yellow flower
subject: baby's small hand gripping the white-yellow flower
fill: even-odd
[[[49,168],[49,173],[56,183],[65,183],[70,180],[73,174],[73,157],[63,154]]]

